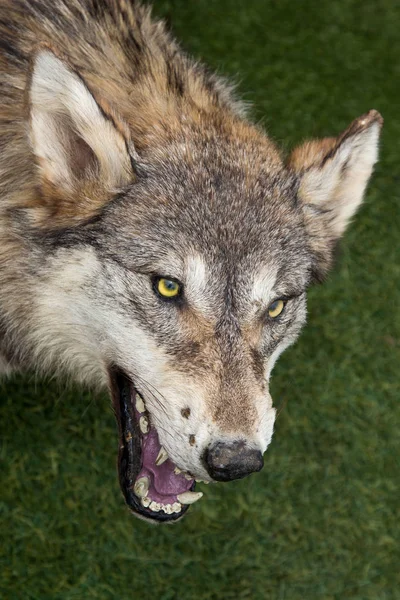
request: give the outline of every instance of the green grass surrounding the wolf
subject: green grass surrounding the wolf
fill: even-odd
[[[160,0],[155,12],[239,77],[284,148],[376,108],[381,161],[275,369],[283,409],[264,470],[203,486],[179,525],[128,514],[106,397],[0,382],[0,597],[399,599],[400,4]]]

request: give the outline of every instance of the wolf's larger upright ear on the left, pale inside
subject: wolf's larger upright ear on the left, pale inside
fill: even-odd
[[[41,202],[53,220],[85,219],[133,180],[127,128],[48,48],[34,58],[29,105]]]

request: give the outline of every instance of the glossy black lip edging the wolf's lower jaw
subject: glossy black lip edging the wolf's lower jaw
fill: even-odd
[[[153,512],[140,503],[133,486],[142,467],[142,435],[132,406],[132,388],[128,377],[120,369],[110,369],[111,393],[115,417],[118,424],[118,477],[125,502],[131,512],[147,521],[171,523],[181,519],[189,506],[182,506],[180,513],[171,515]],[[193,484],[194,488],[194,484]]]

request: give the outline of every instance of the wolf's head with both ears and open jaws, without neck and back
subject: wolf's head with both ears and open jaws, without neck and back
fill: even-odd
[[[286,162],[218,103],[166,109],[135,139],[46,48],[29,103],[41,190],[26,217],[41,256],[29,347],[109,385],[127,501],[176,519],[199,497],[194,478],[262,467],[271,370],[362,200],[382,119],[370,111]]]

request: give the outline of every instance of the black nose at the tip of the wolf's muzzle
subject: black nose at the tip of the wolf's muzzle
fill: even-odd
[[[217,442],[207,448],[203,460],[208,473],[216,481],[242,479],[263,468],[259,450],[248,448],[245,442]]]

